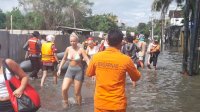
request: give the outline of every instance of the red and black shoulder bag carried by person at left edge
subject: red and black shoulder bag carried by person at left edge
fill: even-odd
[[[7,59],[8,60],[8,59]],[[15,112],[36,112],[40,108],[40,97],[36,90],[28,84],[24,87],[22,94],[15,94],[18,88],[21,87],[21,84],[24,84],[22,80],[14,76],[15,73],[12,69],[10,69],[10,65],[4,59],[2,61],[3,65],[3,75],[5,79],[5,85],[8,90],[8,94],[10,97],[10,102]],[[11,77],[8,77],[7,73],[11,73]]]

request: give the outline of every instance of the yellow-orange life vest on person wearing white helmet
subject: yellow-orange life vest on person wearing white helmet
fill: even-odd
[[[54,43],[52,42],[47,42],[47,43],[43,43],[42,44],[42,61],[43,62],[55,62],[55,56],[54,56],[54,52],[52,50],[52,46],[54,45]]]

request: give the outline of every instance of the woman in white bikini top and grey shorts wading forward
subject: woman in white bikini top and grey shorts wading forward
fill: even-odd
[[[76,102],[78,105],[81,105],[82,97],[81,97],[81,87],[84,79],[84,73],[82,70],[82,58],[89,63],[89,58],[85,53],[84,49],[79,47],[78,44],[78,36],[75,33],[70,35],[70,44],[71,46],[67,47],[65,50],[64,57],[60,62],[60,66],[58,68],[58,76],[61,73],[61,68],[64,63],[69,60],[69,66],[67,72],[65,73],[65,77],[62,84],[62,97],[63,97],[63,106],[64,108],[68,107],[68,90],[72,82],[74,82],[74,94],[76,97]]]

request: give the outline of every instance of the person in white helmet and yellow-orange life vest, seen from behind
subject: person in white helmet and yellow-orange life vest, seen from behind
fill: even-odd
[[[41,53],[42,53],[42,70],[43,75],[41,79],[40,86],[44,86],[44,81],[47,77],[47,70],[50,69],[53,72],[54,76],[54,83],[57,84],[57,64],[59,63],[58,57],[57,57],[57,49],[54,45],[55,37],[53,35],[48,35],[46,37],[46,43],[42,44]]]

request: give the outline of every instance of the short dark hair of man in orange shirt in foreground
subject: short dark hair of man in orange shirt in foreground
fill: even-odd
[[[108,32],[108,44],[110,46],[117,46],[123,40],[123,33],[120,30],[114,29]]]

